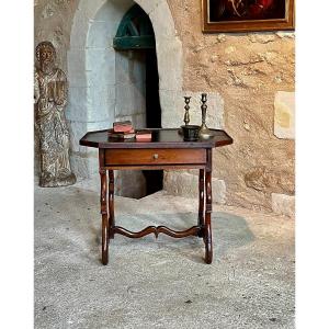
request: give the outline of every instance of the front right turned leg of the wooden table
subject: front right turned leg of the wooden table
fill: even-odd
[[[213,261],[213,239],[212,239],[212,149],[207,150],[207,168],[205,173],[205,189],[206,189],[206,207],[205,207],[205,262],[211,264]]]

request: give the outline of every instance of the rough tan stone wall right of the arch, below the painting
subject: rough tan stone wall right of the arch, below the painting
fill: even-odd
[[[293,132],[294,33],[203,34],[200,2],[169,1],[184,50],[183,88],[223,97],[224,126],[235,140],[215,151],[214,177],[226,183],[227,204],[263,211],[273,204],[273,211],[291,215],[294,134],[274,135],[274,104],[281,91],[291,93],[285,109],[292,117],[285,131]],[[290,206],[279,206],[277,194]]]

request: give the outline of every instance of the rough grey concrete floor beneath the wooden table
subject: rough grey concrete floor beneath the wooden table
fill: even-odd
[[[116,197],[116,222],[184,229],[197,201]],[[35,328],[294,328],[294,220],[214,206],[214,262],[198,238],[116,236],[100,263],[98,193],[35,189]]]

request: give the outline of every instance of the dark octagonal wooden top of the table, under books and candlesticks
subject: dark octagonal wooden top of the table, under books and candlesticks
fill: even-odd
[[[151,141],[111,138],[107,136],[109,129],[105,129],[87,133],[80,139],[80,145],[95,148],[214,148],[234,141],[227,133],[219,129],[211,129],[214,136],[209,139],[196,141],[184,141],[178,128],[143,131],[151,132]]]

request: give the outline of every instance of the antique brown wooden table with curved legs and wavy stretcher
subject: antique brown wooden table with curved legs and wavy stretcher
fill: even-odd
[[[128,238],[141,238],[149,234],[166,234],[173,238],[197,236],[205,243],[205,262],[213,261],[212,241],[212,152],[213,148],[232,144],[224,132],[212,129],[208,140],[184,141],[179,129],[149,129],[151,141],[115,140],[107,131],[90,132],[80,139],[80,145],[99,148],[101,175],[102,214],[102,263],[109,262],[110,239],[115,234]],[[166,226],[149,226],[138,232],[115,225],[114,217],[114,170],[170,170],[200,169],[197,225],[175,231]],[[107,174],[109,173],[109,174]],[[109,188],[109,193],[107,193]]]

